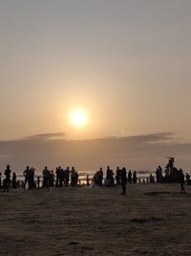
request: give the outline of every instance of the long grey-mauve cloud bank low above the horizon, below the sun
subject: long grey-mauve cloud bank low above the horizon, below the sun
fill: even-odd
[[[65,135],[45,133],[0,141],[1,162],[12,163],[19,169],[28,164],[37,168],[75,165],[81,170],[108,164],[151,168],[165,156],[174,155],[180,161],[187,157],[186,164],[190,164],[191,144],[181,142],[173,132],[86,140],[68,140]]]

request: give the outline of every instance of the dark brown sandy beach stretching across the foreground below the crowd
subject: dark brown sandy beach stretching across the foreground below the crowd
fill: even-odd
[[[191,187],[0,193],[1,255],[191,255]]]

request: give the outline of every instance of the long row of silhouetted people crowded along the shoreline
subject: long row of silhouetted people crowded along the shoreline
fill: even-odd
[[[35,169],[27,166],[26,170],[23,172],[24,179],[17,180],[16,174],[12,173],[11,167],[7,166],[7,169],[4,172],[4,178],[2,180],[2,173],[0,172],[0,188],[3,191],[9,192],[10,188],[12,189],[45,189],[50,190],[51,187],[61,188],[63,186],[79,186],[85,185],[84,182],[81,182],[78,173],[75,171],[74,167],[70,170],[69,167],[62,169],[57,167],[55,171],[50,171],[47,166],[45,166],[42,171],[41,176],[35,176]],[[126,169],[117,167],[116,173],[107,167],[106,176],[104,178],[103,169],[100,168],[99,171],[93,177],[89,175],[86,176],[86,185],[87,186],[106,186],[112,187],[121,185],[122,194],[126,193],[126,185],[137,184],[137,183],[180,183],[181,193],[184,191],[184,175],[181,169],[177,169],[174,166],[174,158],[170,158],[168,164],[165,167],[164,172],[159,166],[155,175],[149,175],[146,178],[140,178],[137,175],[137,172],[126,171]],[[190,175],[186,173],[186,181],[188,185],[191,185]]]

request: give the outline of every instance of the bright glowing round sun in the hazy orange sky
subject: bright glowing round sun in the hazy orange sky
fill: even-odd
[[[88,123],[88,112],[84,108],[75,108],[69,114],[70,123],[75,128],[85,127]]]

